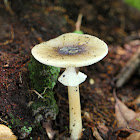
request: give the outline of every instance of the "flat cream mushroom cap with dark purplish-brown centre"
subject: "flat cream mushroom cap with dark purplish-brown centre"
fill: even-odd
[[[106,43],[87,34],[66,33],[36,45],[32,55],[39,62],[55,67],[83,67],[103,59],[108,53]]]

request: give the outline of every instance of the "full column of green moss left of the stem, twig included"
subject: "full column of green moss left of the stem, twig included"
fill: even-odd
[[[43,97],[43,99],[40,98],[34,101],[31,106],[32,110],[34,112],[40,109],[43,112],[47,110],[50,114],[56,116],[58,113],[58,106],[54,98],[53,88],[56,84],[60,68],[43,65],[33,57],[31,57],[28,68],[30,72],[31,88],[36,90]],[[45,113],[44,115],[46,116]]]

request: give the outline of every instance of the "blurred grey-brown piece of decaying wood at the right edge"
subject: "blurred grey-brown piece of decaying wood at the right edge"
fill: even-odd
[[[132,58],[126,63],[126,65],[117,75],[116,87],[122,87],[134,74],[139,64],[140,64],[140,45],[138,51],[132,56]]]

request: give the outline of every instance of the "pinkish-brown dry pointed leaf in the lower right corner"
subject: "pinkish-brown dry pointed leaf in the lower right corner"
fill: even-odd
[[[120,133],[128,132],[130,136],[126,137],[126,140],[139,140],[140,139],[140,112],[135,112],[128,108],[113,92],[115,98],[115,115],[118,125],[118,136]]]

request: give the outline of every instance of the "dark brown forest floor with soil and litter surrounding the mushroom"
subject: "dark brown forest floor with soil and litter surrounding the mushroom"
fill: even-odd
[[[28,71],[31,49],[38,43],[73,32],[78,14],[82,13],[81,30],[101,38],[109,47],[102,61],[81,68],[88,75],[80,85],[82,139],[99,139],[94,132],[107,140],[126,139],[130,133],[117,127],[113,91],[127,107],[140,111],[140,102],[136,102],[140,94],[138,70],[124,85],[116,86],[117,75],[140,48],[140,12],[119,0],[12,0],[11,10],[0,3],[0,122],[11,126],[19,139],[49,139],[43,126],[42,130],[35,128],[21,136],[19,129],[24,125],[13,126],[11,114],[33,123],[34,117],[27,107],[32,101]],[[57,83],[55,93],[59,113],[49,127],[54,139],[64,140],[69,137],[67,89]]]

